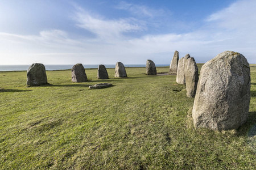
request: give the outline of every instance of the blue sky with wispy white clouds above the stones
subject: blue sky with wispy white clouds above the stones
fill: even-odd
[[[226,50],[256,63],[255,0],[0,1],[0,65],[204,63]]]

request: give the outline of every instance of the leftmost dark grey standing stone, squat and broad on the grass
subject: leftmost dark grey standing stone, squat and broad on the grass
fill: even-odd
[[[47,83],[46,67],[33,63],[27,70],[27,86],[40,86]]]

